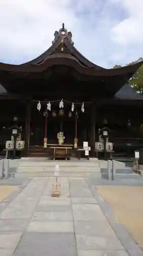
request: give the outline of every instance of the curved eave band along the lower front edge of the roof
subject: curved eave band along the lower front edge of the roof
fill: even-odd
[[[31,73],[31,72],[43,72],[51,66],[65,65],[76,69],[79,73],[89,76],[119,76],[129,74],[129,78],[135,73],[135,71],[143,64],[143,61],[133,63],[118,69],[97,69],[97,66],[85,67],[79,59],[71,56],[69,53],[54,53],[49,55],[46,59],[41,60],[40,63],[30,64],[25,63],[23,65],[11,65],[0,62],[0,72],[15,72],[15,73]],[[128,78],[128,79],[129,79]]]

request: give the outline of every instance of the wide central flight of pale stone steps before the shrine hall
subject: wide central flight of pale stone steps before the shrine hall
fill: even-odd
[[[94,177],[101,179],[98,159],[72,159],[54,161],[47,158],[22,158],[18,161],[16,176],[53,177],[55,164],[59,163],[60,177]]]

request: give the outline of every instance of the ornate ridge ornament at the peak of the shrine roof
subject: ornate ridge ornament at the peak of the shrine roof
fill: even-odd
[[[58,38],[61,38],[61,40],[64,41],[65,38],[67,38],[70,42],[70,44],[74,45],[74,42],[72,41],[72,33],[69,31],[67,31],[67,29],[65,29],[65,24],[62,24],[62,28],[59,30],[59,32],[56,30],[54,32],[54,40],[52,41],[52,44],[54,44],[54,42],[56,40],[58,40]]]

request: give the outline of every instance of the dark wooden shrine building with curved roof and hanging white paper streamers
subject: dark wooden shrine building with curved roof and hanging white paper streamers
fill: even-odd
[[[93,53],[94,54],[94,53]],[[143,61],[105,69],[85,58],[64,24],[51,47],[21,65],[0,63],[0,146],[4,153],[15,120],[24,141],[22,156],[46,156],[49,146],[82,147],[95,156],[99,131],[108,127],[115,154],[143,145],[143,97],[129,79]]]

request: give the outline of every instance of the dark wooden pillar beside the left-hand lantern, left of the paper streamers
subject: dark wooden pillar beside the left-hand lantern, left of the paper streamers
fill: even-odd
[[[25,113],[25,157],[28,156],[29,144],[30,144],[30,123],[31,123],[31,101],[26,101],[26,113]]]

